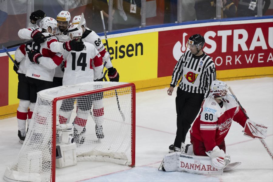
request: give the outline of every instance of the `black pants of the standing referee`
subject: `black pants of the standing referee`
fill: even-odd
[[[177,96],[175,99],[177,113],[177,131],[174,140],[175,147],[181,147],[181,142],[185,142],[186,135],[190,129],[190,125],[194,122],[197,116],[201,103],[204,100],[205,94],[189,93],[177,88]]]

